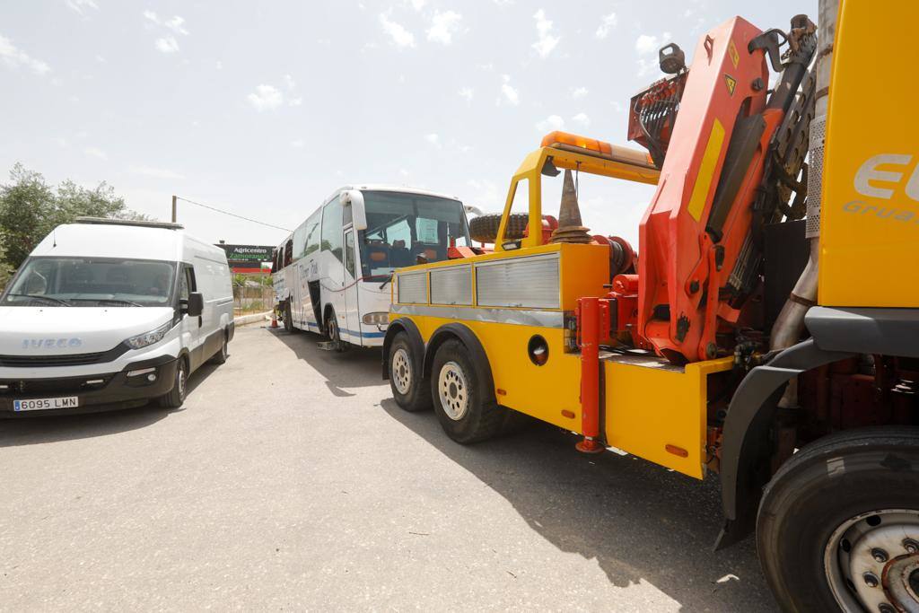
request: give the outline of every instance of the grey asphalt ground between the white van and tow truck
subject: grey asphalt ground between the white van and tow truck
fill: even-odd
[[[0,421],[0,609],[775,609],[714,480],[461,447],[315,340],[240,329],[176,412]]]

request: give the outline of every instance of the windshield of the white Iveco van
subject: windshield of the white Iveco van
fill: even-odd
[[[176,264],[154,260],[31,257],[6,289],[4,306],[168,306]]]

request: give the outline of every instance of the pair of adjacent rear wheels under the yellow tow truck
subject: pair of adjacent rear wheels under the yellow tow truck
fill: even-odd
[[[437,347],[429,370],[423,357],[414,355],[404,332],[392,339],[389,353],[392,396],[405,411],[434,407],[448,437],[475,443],[494,437],[505,424],[507,409],[494,402],[492,391],[482,387],[468,348],[451,338]]]

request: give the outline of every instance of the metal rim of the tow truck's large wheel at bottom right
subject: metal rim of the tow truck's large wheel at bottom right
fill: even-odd
[[[919,613],[919,510],[863,513],[834,530],[823,569],[845,611]]]

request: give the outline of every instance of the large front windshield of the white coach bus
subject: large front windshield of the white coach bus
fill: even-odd
[[[470,244],[458,200],[392,191],[365,191],[367,230],[360,244],[361,274],[389,277],[395,268],[447,259],[447,248]]]

